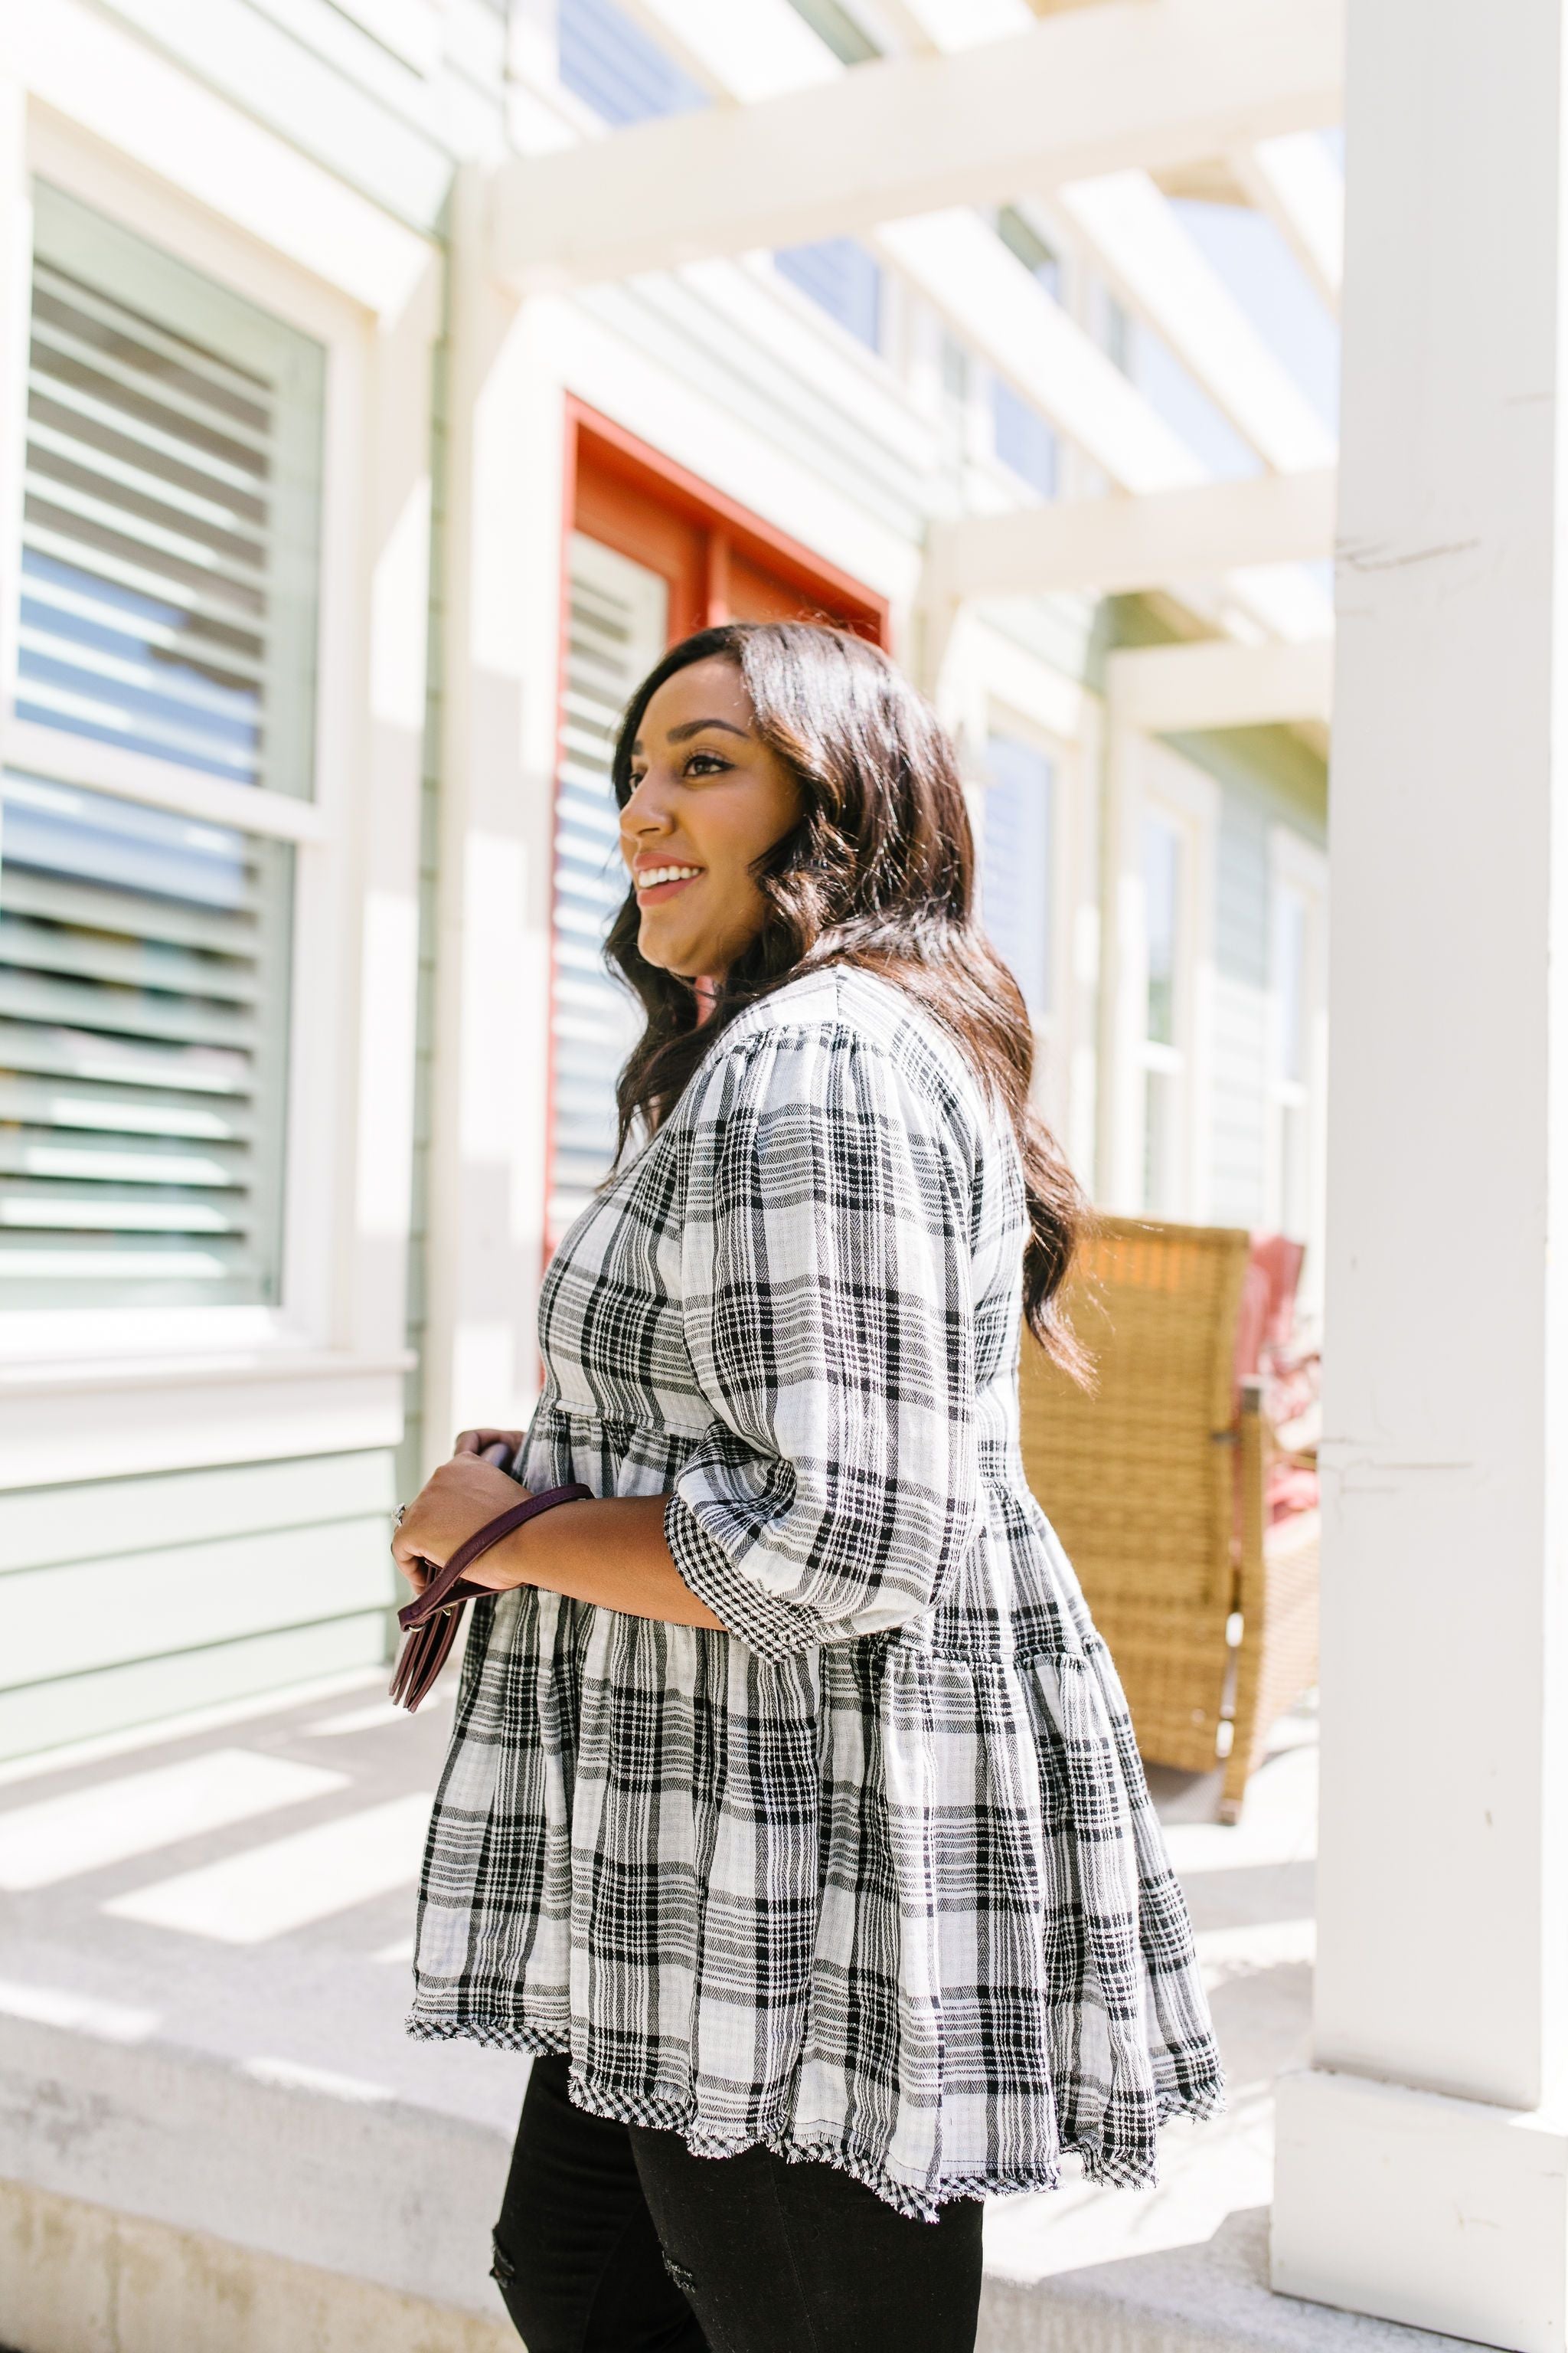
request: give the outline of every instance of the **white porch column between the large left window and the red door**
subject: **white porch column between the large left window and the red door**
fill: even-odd
[[[425,1468],[527,1424],[545,1231],[564,412],[555,304],[491,282],[480,167],[454,195]]]

